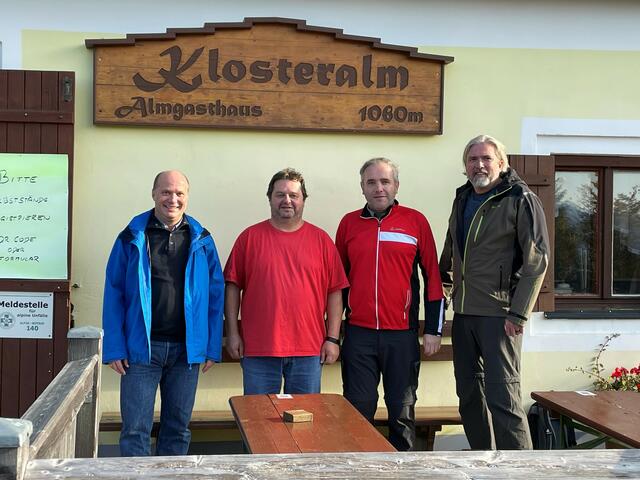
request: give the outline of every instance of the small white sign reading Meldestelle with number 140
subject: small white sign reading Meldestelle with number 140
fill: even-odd
[[[51,338],[53,293],[0,292],[0,338]]]

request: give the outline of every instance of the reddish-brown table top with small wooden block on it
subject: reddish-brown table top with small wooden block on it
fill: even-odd
[[[393,446],[342,395],[243,395],[229,403],[251,453],[395,452]],[[289,423],[285,410],[313,413],[312,422]]]

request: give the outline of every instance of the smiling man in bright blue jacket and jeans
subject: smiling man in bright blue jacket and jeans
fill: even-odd
[[[184,212],[189,181],[159,173],[153,210],[118,235],[107,264],[103,362],[121,375],[122,456],[149,455],[156,390],[157,455],[184,455],[198,384],[219,362],[224,280],[211,234]]]

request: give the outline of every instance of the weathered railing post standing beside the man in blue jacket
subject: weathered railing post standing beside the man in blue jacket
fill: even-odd
[[[69,330],[69,361],[93,355],[102,358],[102,330],[97,327],[79,327]],[[93,374],[93,387],[76,418],[76,458],[95,458],[98,453],[100,427],[100,385],[102,365],[98,361]]]

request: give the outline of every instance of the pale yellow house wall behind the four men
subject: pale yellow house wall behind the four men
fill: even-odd
[[[375,33],[375,32],[372,32]],[[399,200],[429,218],[439,246],[461,175],[460,151],[478,133],[519,151],[523,117],[635,119],[640,111],[640,54],[474,48],[422,48],[452,55],[445,68],[444,135],[400,136],[215,129],[106,127],[92,124],[92,51],[96,33],[24,31],[25,69],[76,72],[76,124],[71,280],[77,325],[100,325],[104,266],[117,233],[151,208],[160,170],[179,168],[191,180],[189,213],[214,235],[223,262],[236,236],[267,217],[266,184],[291,166],[307,179],[305,218],[334,234],[347,211],[363,204],[360,164],[387,156],[400,165]],[[601,341],[594,338],[594,348]],[[523,396],[549,388],[584,388],[564,369],[586,365],[592,352],[527,353]],[[618,358],[619,357],[619,358]],[[616,361],[637,362],[633,353]],[[338,366],[325,368],[323,389],[340,392]],[[202,376],[196,409],[226,408],[241,393],[237,364]],[[419,404],[455,404],[450,363],[424,363]],[[118,410],[116,375],[104,369],[103,410]]]

